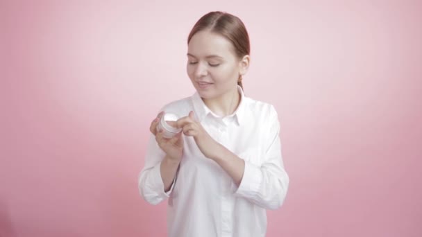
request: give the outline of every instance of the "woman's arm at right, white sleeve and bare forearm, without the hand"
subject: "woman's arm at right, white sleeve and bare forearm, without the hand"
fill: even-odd
[[[214,161],[226,170],[237,186],[235,195],[246,198],[265,209],[278,209],[287,195],[289,176],[282,162],[280,123],[276,110],[271,107],[269,137],[262,164],[257,166],[219,146]]]

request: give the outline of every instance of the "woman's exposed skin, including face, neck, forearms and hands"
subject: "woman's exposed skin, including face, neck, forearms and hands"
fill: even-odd
[[[250,57],[237,57],[233,44],[218,33],[208,30],[196,33],[188,44],[187,75],[198,91],[205,105],[219,116],[233,114],[240,103],[237,80],[244,75],[249,66]],[[173,125],[182,128],[182,132],[171,139],[162,137],[163,132],[156,132],[162,113],[151,123],[151,133],[155,135],[158,146],[166,153],[160,165],[164,191],[169,191],[183,157],[183,137],[194,137],[196,145],[205,157],[214,160],[239,185],[244,173],[244,160],[212,139],[199,121],[194,119],[194,112],[179,119]]]

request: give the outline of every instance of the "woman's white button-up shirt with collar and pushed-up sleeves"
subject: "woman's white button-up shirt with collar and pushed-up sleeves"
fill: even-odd
[[[280,124],[272,105],[244,96],[230,116],[217,116],[198,93],[162,109],[196,119],[210,136],[245,161],[242,182],[205,157],[193,139],[183,136],[183,159],[169,192],[164,192],[160,162],[165,153],[151,135],[138,186],[147,202],[168,198],[169,236],[265,236],[266,209],[278,209],[289,186],[281,156]]]

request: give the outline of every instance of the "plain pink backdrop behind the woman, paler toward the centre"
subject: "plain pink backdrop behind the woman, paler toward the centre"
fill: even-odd
[[[267,236],[422,236],[421,1],[0,1],[0,236],[165,236],[149,123],[211,10],[251,35],[290,188]]]

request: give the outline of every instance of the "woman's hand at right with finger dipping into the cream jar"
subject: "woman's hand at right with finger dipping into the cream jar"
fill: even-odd
[[[220,144],[212,139],[199,121],[196,121],[193,111],[189,112],[189,116],[179,119],[177,126],[178,128],[182,128],[185,136],[194,137],[196,145],[205,157],[213,159]]]

